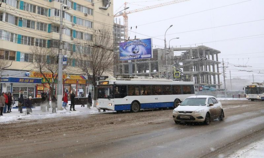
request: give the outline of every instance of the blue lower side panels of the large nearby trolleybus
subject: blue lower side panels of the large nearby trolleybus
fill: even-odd
[[[140,104],[141,109],[151,109],[151,108],[167,108],[173,107],[174,102],[166,102],[166,103],[143,103]],[[121,104],[115,105],[115,110],[131,110],[131,104]]]

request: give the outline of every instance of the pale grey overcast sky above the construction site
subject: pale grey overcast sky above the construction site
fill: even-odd
[[[130,11],[170,1],[172,0],[127,0],[126,2]],[[122,6],[124,2],[123,0],[112,2],[116,11],[114,14],[124,9]],[[226,65],[229,67],[226,68],[228,79],[229,71],[232,78],[241,77],[251,81],[254,73],[255,82],[262,82],[264,81],[263,7],[264,0],[189,0],[128,14],[129,30],[132,27],[129,36],[130,39],[135,35],[141,39],[153,37],[154,47],[164,48],[165,31],[173,25],[166,33],[167,45],[169,40],[175,37],[180,39],[172,40],[171,46],[188,47],[195,44],[201,46],[203,43],[205,46],[220,50],[219,60],[224,58],[224,62],[230,63]],[[119,16],[119,18],[123,24],[123,17]],[[169,18],[171,19],[166,20]],[[219,42],[219,40],[224,41]],[[175,52],[177,55],[179,53]],[[247,67],[236,67],[237,65]]]

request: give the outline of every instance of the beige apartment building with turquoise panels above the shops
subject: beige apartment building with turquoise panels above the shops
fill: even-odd
[[[89,46],[93,45],[93,36],[99,33],[101,28],[111,30],[113,28],[113,5],[110,4],[110,1],[4,0],[1,2],[0,62],[5,61],[7,65],[12,62],[11,66],[5,70],[16,71],[16,73],[2,74],[2,77],[36,78],[27,74],[27,72],[39,73],[34,63],[47,60],[49,64],[56,64],[60,37],[60,16],[63,16],[63,54],[71,56],[63,73],[72,75],[70,77],[77,76],[78,78],[78,76],[85,75],[78,68],[86,62],[76,57],[80,53],[77,48],[85,48],[79,51],[89,50]],[[63,15],[60,15],[61,4],[65,6]],[[113,35],[110,34],[110,36]],[[53,48],[56,51],[53,55],[43,55],[39,61],[33,55],[32,49],[34,48]],[[77,78],[64,79],[64,84],[70,89],[75,84],[76,89],[79,87],[86,91],[85,87],[88,81]],[[10,81],[14,81],[14,79]],[[9,82],[6,83],[9,84]],[[45,83],[42,79],[40,84]],[[19,84],[21,86],[28,83]],[[34,97],[37,97],[36,88],[35,86]]]

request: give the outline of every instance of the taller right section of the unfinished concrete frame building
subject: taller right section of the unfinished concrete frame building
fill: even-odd
[[[221,62],[218,61],[218,54],[221,51],[207,46],[171,48],[171,50],[185,51],[176,57],[183,65],[182,75],[188,75],[189,81],[193,81],[196,88],[198,86],[218,86],[220,88],[219,64]]]

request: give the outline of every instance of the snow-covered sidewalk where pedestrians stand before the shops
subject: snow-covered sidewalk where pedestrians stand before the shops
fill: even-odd
[[[69,116],[87,116],[90,114],[98,114],[98,109],[91,107],[91,109],[85,107],[81,107],[81,105],[75,105],[76,111],[70,111],[70,107],[66,107],[67,110],[56,111],[56,113],[52,113],[52,108],[49,108],[49,111],[42,112],[40,107],[32,108],[32,113],[30,115],[25,115],[26,109],[23,109],[23,113],[20,113],[18,109],[12,109],[11,113],[3,114],[0,117],[1,123],[11,123],[16,121],[29,121],[29,120],[39,120],[39,119],[47,119],[47,118],[55,118],[55,117],[69,117]],[[46,107],[47,110],[47,107]],[[109,111],[110,112],[110,111]],[[112,112],[112,111],[111,111]]]

